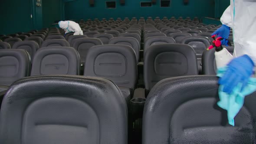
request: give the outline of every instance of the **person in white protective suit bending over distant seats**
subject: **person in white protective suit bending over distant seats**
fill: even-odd
[[[79,24],[73,21],[60,21],[59,27],[65,30],[65,34],[74,33],[74,35],[83,35],[83,31]]]

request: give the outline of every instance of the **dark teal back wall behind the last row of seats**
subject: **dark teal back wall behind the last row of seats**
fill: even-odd
[[[115,9],[107,9],[105,1],[113,0],[95,0],[94,7],[89,5],[89,0],[67,2],[65,5],[65,18],[213,17],[215,9],[214,0],[190,0],[188,5],[184,5],[183,0],[171,0],[171,7],[160,7],[160,0],[157,0],[157,3],[153,4],[152,7],[140,7],[141,1],[150,2],[151,0],[125,0],[125,5],[120,5],[119,0],[116,0]]]

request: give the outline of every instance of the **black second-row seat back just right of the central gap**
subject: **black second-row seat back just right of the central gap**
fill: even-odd
[[[157,44],[144,52],[144,83],[146,90],[162,79],[198,75],[194,49],[184,44]]]

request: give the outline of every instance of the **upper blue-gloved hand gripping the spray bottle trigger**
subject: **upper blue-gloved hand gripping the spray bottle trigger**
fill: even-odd
[[[213,34],[217,35],[217,37],[222,37],[223,39],[220,41],[222,45],[228,46],[228,36],[230,35],[230,27],[226,25],[222,25],[219,29],[217,29]]]

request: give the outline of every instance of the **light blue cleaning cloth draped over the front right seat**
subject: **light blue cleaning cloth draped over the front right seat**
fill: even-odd
[[[217,70],[217,76],[222,77],[227,70],[227,66]],[[242,84],[238,84],[231,94],[223,92],[223,85],[219,87],[220,101],[217,105],[227,111],[227,118],[230,125],[235,126],[234,118],[243,107],[244,98],[256,91],[256,78],[250,78],[247,85],[241,91]]]

